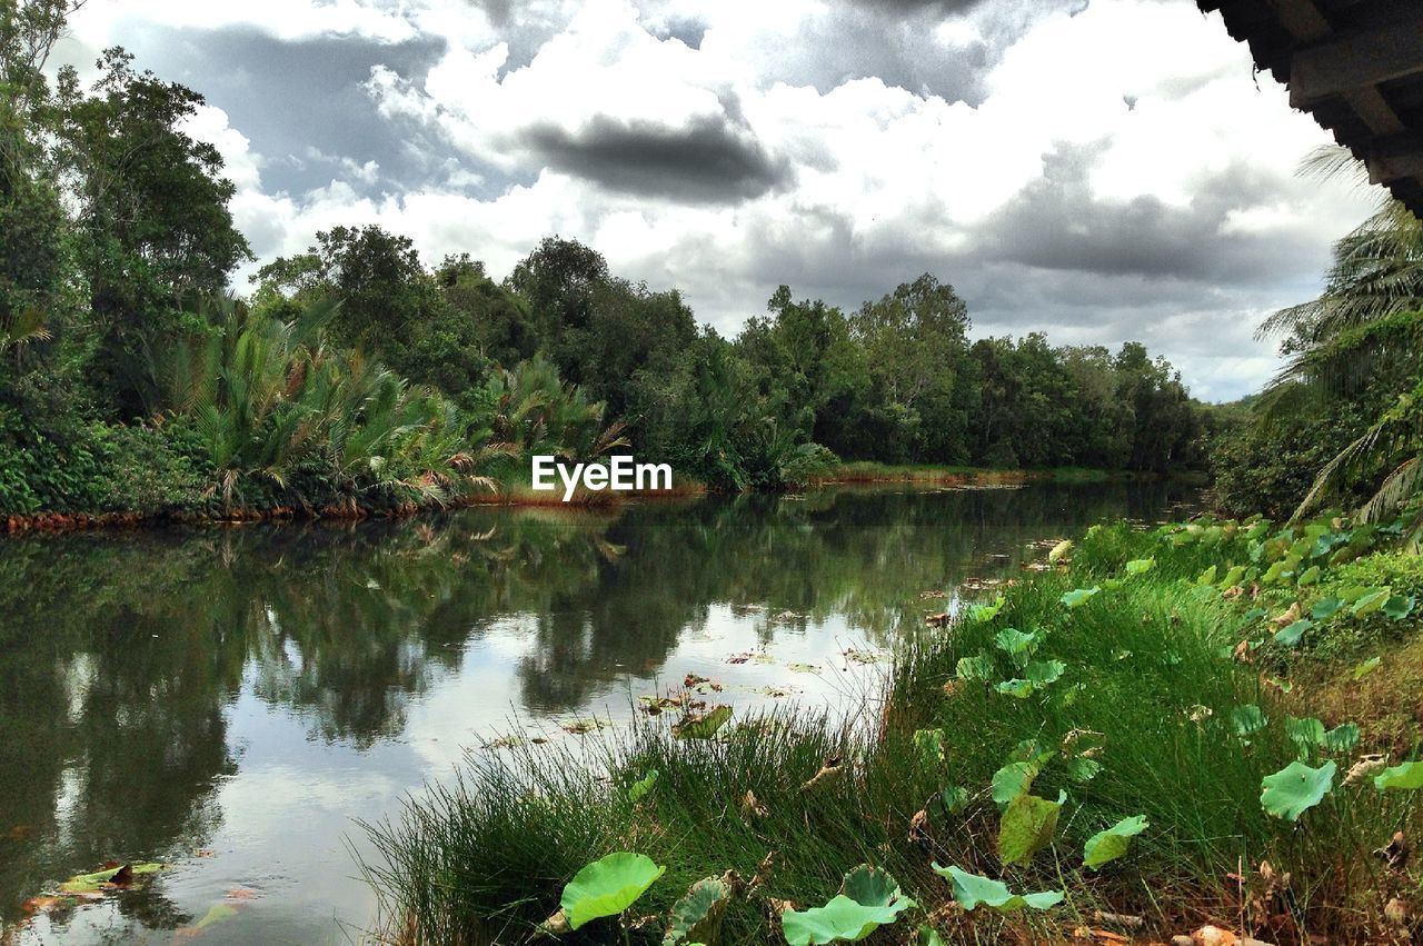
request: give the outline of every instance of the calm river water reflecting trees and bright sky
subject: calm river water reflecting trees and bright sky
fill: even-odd
[[[952,603],[1033,539],[1191,498],[852,489],[0,539],[0,942],[359,940],[353,821],[501,751],[511,720],[583,738],[561,726],[687,673],[740,707],[822,706],[945,606],[921,592]],[[23,919],[107,861],[175,866]]]

